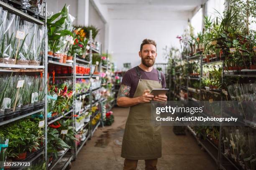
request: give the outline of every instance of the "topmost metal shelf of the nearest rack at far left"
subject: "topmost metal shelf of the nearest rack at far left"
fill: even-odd
[[[8,5],[5,2],[0,1],[0,6],[3,7],[5,10],[8,10],[11,13],[14,13],[14,14],[20,16],[21,18],[23,18],[25,20],[31,21],[31,22],[39,24],[39,25],[44,25],[43,21],[38,20],[36,18],[33,18],[32,16],[30,16],[30,15],[28,15],[26,13],[23,13],[22,11],[16,9],[15,7],[12,7],[12,6]]]

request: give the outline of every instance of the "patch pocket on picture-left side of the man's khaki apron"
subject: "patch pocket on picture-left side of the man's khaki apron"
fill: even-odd
[[[143,120],[136,122],[127,122],[125,128],[125,140],[142,141],[143,138]]]

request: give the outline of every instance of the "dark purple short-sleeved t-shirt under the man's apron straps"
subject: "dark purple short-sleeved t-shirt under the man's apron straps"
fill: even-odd
[[[159,81],[158,80],[158,72],[156,69],[153,68],[153,70],[151,72],[146,72],[139,67],[139,71],[141,73],[141,79]],[[161,80],[162,80],[162,88],[165,88],[166,83],[165,83],[165,76],[164,76],[163,72],[161,72]],[[138,81],[139,81],[139,78],[137,76],[135,67],[131,68],[130,70],[125,72],[125,74],[123,75],[123,80],[122,80],[121,84],[131,87],[129,97],[133,97],[133,95],[136,91],[136,88],[138,86]]]

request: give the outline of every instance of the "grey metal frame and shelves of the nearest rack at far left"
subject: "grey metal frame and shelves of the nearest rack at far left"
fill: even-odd
[[[46,27],[46,20],[44,18],[46,18],[46,13],[47,13],[47,6],[46,3],[43,3],[43,14],[44,16],[41,16],[41,20],[38,20],[34,17],[32,17],[31,15],[28,15],[26,13],[23,13],[22,11],[16,9],[15,7],[12,7],[10,5],[8,5],[5,2],[0,1],[0,7],[3,7],[3,10],[7,10],[8,13],[13,13],[17,16],[19,16],[22,20],[26,20],[29,21],[31,23],[35,23],[37,25],[41,25]],[[46,29],[44,29],[44,34],[47,35]],[[42,44],[44,45],[44,51],[43,51],[43,55],[47,56],[47,39],[45,39]],[[43,82],[45,83],[47,81],[47,57],[43,57],[42,58],[42,63],[43,65],[12,65],[12,64],[4,64],[4,63],[0,63],[0,74],[5,74],[6,72],[22,72],[25,75],[27,75],[30,72],[41,72],[43,73]],[[43,107],[43,108],[42,108]],[[23,119],[25,117],[28,117],[30,115],[34,115],[36,113],[39,112],[47,112],[47,86],[46,86],[46,90],[45,90],[45,97],[44,97],[44,105],[41,106],[41,108],[39,108],[38,110],[34,110],[31,112],[28,112],[25,115],[20,115],[18,117],[15,117],[13,119],[10,120],[4,120],[3,122],[0,122],[0,128],[2,127],[2,125],[7,125],[7,124],[11,124],[16,120],[20,120]],[[45,114],[46,117],[44,117],[45,119],[45,125],[47,125],[47,114]],[[44,127],[44,138],[47,138],[47,126]],[[33,154],[28,158],[26,158],[26,160],[24,161],[30,161],[31,163],[33,163],[34,160],[36,160],[37,158],[41,157],[43,155],[43,159],[45,161],[47,161],[47,140],[44,141],[44,147],[39,149],[38,152]],[[11,168],[13,169],[13,168]],[[25,168],[18,168],[18,170],[22,170]]]

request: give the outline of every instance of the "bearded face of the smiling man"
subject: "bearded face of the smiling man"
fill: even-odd
[[[139,52],[141,62],[147,67],[152,67],[156,60],[156,47],[153,44],[145,44]]]

